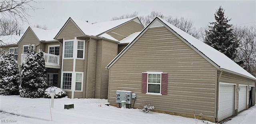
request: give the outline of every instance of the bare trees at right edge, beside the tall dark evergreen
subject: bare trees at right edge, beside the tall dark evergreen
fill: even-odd
[[[236,62],[256,76],[256,26],[234,26],[233,33],[240,42]]]

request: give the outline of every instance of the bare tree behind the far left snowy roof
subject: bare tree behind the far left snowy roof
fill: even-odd
[[[16,31],[23,32],[23,28],[18,22],[6,18],[0,20],[0,36],[15,34]]]

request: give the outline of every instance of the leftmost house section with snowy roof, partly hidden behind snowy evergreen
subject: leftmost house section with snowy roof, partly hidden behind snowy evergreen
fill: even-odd
[[[0,54],[2,54],[3,51],[12,52],[15,56],[15,59],[18,60],[18,42],[22,36],[23,33],[0,36]]]

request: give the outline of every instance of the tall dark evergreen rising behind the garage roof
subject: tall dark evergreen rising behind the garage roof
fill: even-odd
[[[232,33],[232,25],[228,24],[231,19],[224,16],[224,10],[221,6],[216,10],[214,16],[216,22],[211,22],[208,31],[205,31],[205,43],[234,60],[239,44]]]

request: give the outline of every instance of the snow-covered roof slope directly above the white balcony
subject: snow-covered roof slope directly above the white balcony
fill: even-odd
[[[60,31],[59,28],[44,30],[41,28],[31,27],[31,29],[36,34],[37,38],[41,41],[54,41],[55,39],[53,38]]]

